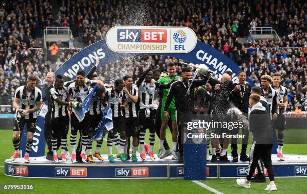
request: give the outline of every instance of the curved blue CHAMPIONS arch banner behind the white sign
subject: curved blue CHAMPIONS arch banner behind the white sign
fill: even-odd
[[[185,61],[189,61],[194,64],[205,64],[211,70],[216,71],[218,76],[223,74],[227,70],[233,72],[232,80],[238,79],[237,73],[241,70],[232,60],[223,55],[218,50],[212,48],[210,45],[201,41],[197,41],[195,48],[189,53],[116,53],[110,50],[105,40],[100,40],[94,44],[82,49],[80,52],[68,59],[55,74],[62,74],[75,78],[78,70],[84,70],[88,72],[90,68],[96,63],[98,57],[99,65],[105,65],[107,63],[122,59],[129,56],[137,55],[165,55],[172,56]],[[253,82],[246,77],[251,86],[254,86]]]

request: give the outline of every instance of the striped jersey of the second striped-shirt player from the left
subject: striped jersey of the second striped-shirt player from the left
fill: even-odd
[[[55,100],[59,98],[61,101],[65,101],[67,98],[67,87],[63,86],[62,89],[57,89],[54,85],[49,91],[50,99],[52,102],[52,118],[59,118],[68,116],[67,106],[59,105]]]

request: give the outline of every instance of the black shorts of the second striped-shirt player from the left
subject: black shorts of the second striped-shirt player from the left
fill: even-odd
[[[66,137],[69,128],[69,117],[51,118],[51,134],[52,137]]]

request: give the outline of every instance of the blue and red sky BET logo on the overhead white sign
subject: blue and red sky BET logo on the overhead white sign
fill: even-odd
[[[167,30],[117,29],[117,42],[167,42]]]

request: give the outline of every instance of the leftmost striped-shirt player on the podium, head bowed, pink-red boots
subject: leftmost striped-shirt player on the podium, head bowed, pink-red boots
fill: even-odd
[[[40,110],[42,91],[35,87],[36,80],[35,75],[29,75],[27,78],[27,84],[20,86],[16,89],[13,107],[16,109],[15,123],[13,128],[13,145],[15,153],[11,157],[11,161],[14,161],[20,156],[20,138],[19,135],[23,134],[24,126],[27,125],[27,144],[25,162],[29,163],[29,153],[33,145],[33,136],[36,129],[37,111]]]

